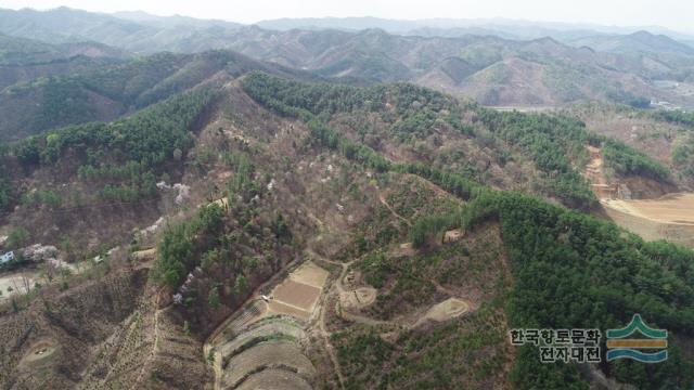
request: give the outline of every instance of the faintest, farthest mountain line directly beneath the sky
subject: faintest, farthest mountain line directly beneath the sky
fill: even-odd
[[[61,20],[54,21],[54,16],[61,16]],[[12,18],[12,21],[9,18]],[[24,32],[37,36],[40,35],[42,38],[37,38],[50,42],[75,39],[76,36],[81,36],[82,39],[90,38],[85,36],[85,34],[93,32],[92,29],[98,31],[110,27],[113,29],[111,32],[114,34],[114,36],[110,38],[112,42],[107,44],[119,47],[123,47],[123,44],[118,44],[116,42],[124,40],[131,34],[146,39],[147,37],[142,35],[143,31],[156,35],[160,34],[162,29],[167,29],[168,34],[177,32],[176,36],[180,36],[182,32],[185,35],[185,32],[174,31],[171,29],[175,27],[188,27],[192,29],[191,31],[188,31],[188,35],[193,36],[198,34],[200,30],[210,28],[229,31],[248,26],[222,20],[200,20],[182,15],[158,16],[142,11],[123,11],[113,14],[103,14],[90,13],[65,6],[48,11],[36,11],[31,9],[13,11],[0,9],[0,22],[2,22],[2,26],[5,30],[17,27],[21,29],[24,27],[31,27],[35,29],[34,31],[30,32],[28,30],[24,30]],[[618,27],[580,23],[529,22],[507,18],[424,18],[406,21],[373,16],[306,17],[267,20],[257,22],[255,25],[265,29],[273,30],[338,29],[358,31],[378,28],[389,34],[426,37],[462,37],[465,35],[494,35],[509,39],[537,39],[552,37],[562,42],[570,42],[571,40],[595,37],[614,38],[615,36],[629,36],[640,31],[648,31],[653,35],[666,35],[671,39],[685,43],[686,46],[694,46],[694,34],[678,32],[658,26]],[[56,27],[61,27],[62,34],[44,34],[47,30],[54,29]],[[95,40],[103,41],[103,39]]]

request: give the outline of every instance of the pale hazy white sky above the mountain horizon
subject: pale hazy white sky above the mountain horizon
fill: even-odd
[[[506,17],[616,26],[657,25],[694,32],[692,0],[0,0],[0,8],[88,11],[142,10],[156,15],[254,23],[279,17],[378,16],[387,18]]]

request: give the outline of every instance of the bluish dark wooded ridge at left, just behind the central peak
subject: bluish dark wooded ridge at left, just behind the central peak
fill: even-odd
[[[47,69],[31,79],[10,81],[12,84],[0,91],[0,115],[4,119],[0,140],[18,140],[66,125],[113,120],[218,73],[237,76],[258,68],[293,73],[228,51],[160,53],[127,62],[89,61],[64,74]]]

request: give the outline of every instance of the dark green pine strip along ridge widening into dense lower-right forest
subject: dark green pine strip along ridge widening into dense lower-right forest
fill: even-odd
[[[348,98],[348,90],[331,90],[326,86],[308,87],[301,93],[298,83],[262,75],[249,76],[244,86],[269,107],[307,120],[317,141],[339,151],[345,157],[381,171],[404,170],[419,174],[470,202],[459,217],[446,213],[422,220],[413,227],[416,229],[413,243],[427,242],[417,235],[440,236],[453,227],[474,230],[485,222],[499,221],[514,276],[514,286],[504,304],[510,327],[609,328],[628,322],[631,314],[639,311],[674,335],[691,337],[694,332],[691,327],[694,291],[687,287],[694,264],[690,250],[667,243],[646,244],[595,217],[527,195],[484,188],[455,173],[390,164],[377,152],[339,135],[322,121],[321,117],[327,118],[339,107],[351,109],[360,102],[374,99],[373,90],[359,90],[357,95],[361,99],[354,100]],[[331,99],[324,99],[325,95]],[[367,96],[371,99],[364,99]],[[336,106],[335,102],[340,103]],[[511,117],[513,122],[499,126],[499,129],[512,135],[514,122],[532,119],[532,116],[516,116]],[[542,128],[541,125],[538,127]],[[622,145],[615,151],[630,150]],[[646,174],[665,174],[660,167],[643,155],[637,155],[650,162],[643,167],[635,164],[634,169]],[[540,158],[540,161],[548,159]],[[561,168],[555,170],[562,171]],[[354,348],[362,349],[350,353],[367,354],[365,361],[377,362],[381,353],[386,353],[382,348],[397,348],[387,343],[374,350],[368,344],[357,344]],[[519,351],[511,377],[515,386],[588,388],[576,366],[544,365],[537,360],[537,353],[530,348]],[[645,367],[619,362],[604,369],[619,381],[642,388],[687,387],[694,382],[691,375],[694,363],[685,356],[680,348],[674,348],[665,364]],[[390,380],[387,375],[382,376],[380,384],[387,386]]]

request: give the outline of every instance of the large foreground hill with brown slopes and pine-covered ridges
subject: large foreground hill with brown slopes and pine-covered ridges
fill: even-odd
[[[230,54],[163,57],[185,66],[206,55]],[[293,370],[313,388],[584,389],[578,365],[541,364],[507,330],[614,328],[633,312],[668,329],[670,359],[645,373],[629,362],[595,369],[644,388],[694,381],[691,250],[547,202],[590,210],[580,174],[589,145],[613,147],[619,174],[668,181],[667,169],[566,115],[500,113],[409,83],[245,70],[213,72],[131,116],[0,150],[12,184],[0,187],[10,193],[0,233],[14,249],[55,244],[63,259],[91,263],[53,280],[37,268],[44,285],[2,306],[0,342],[12,351],[2,386],[202,389],[218,375],[241,384],[234,369],[246,358],[258,368],[244,372],[250,386],[292,370],[260,354],[274,347],[313,358],[295,363],[314,370]],[[118,83],[102,88],[127,95]],[[308,288],[318,296],[311,321],[278,309],[282,297],[258,299],[306,259],[330,273],[325,288]],[[87,314],[103,315],[103,302],[118,310],[88,333]],[[222,337],[252,334],[252,308],[292,316],[285,327],[308,337],[249,336],[227,354],[231,365],[203,353],[228,318],[241,324]],[[67,359],[70,346],[92,354]]]

